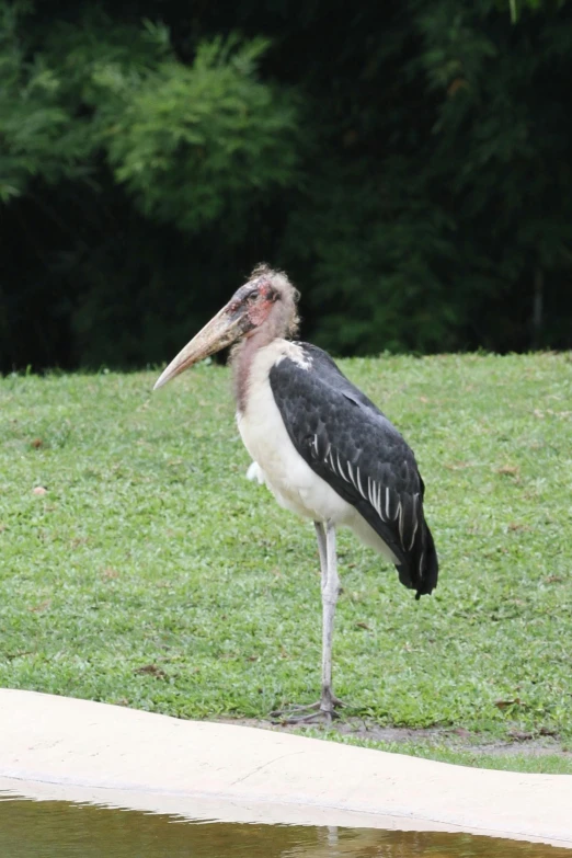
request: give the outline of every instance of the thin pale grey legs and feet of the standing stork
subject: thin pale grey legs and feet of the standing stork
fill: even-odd
[[[335,553],[335,525],[328,522],[314,522],[320,556],[321,591],[322,591],[322,694],[320,700],[307,706],[291,706],[288,710],[271,712],[274,718],[282,717],[285,723],[309,723],[325,720],[332,722],[334,708],[343,706],[332,693],[332,637],[335,604],[340,591],[338,576],[338,558]],[[318,710],[318,711],[316,711]],[[310,712],[310,714],[304,714]]]

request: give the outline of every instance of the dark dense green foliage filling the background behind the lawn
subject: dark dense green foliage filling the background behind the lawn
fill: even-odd
[[[254,263],[344,354],[572,343],[563,0],[0,0],[0,367],[163,361]]]

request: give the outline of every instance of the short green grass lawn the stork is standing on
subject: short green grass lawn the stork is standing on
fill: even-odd
[[[341,534],[336,694],[572,745],[571,355],[342,367],[415,450],[442,577],[416,603]],[[0,380],[0,685],[184,718],[311,701],[313,528],[245,479],[226,369],[156,375]]]

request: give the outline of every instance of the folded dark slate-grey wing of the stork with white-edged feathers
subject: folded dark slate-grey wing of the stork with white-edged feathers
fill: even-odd
[[[321,348],[299,344],[309,368],[283,357],[270,373],[294,446],[391,549],[402,584],[417,598],[436,586],[438,562],[423,514],[415,457],[376,405]]]

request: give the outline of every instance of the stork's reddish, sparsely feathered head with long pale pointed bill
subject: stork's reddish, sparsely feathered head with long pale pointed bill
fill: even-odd
[[[298,297],[285,274],[258,265],[248,283],[237,289],[229,302],[171,361],[153,390],[244,338],[260,334],[270,342],[276,336],[294,335],[298,328]]]

